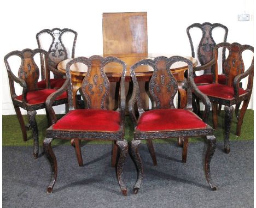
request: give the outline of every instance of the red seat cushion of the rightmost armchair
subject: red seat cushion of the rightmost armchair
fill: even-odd
[[[232,99],[234,97],[234,88],[225,84],[206,84],[198,86],[198,89],[211,97],[220,97],[222,99]],[[243,88],[238,88],[239,95],[247,93]]]

